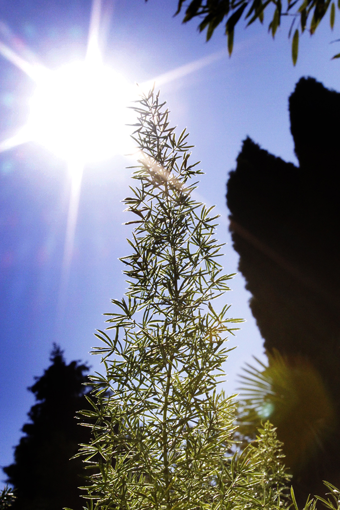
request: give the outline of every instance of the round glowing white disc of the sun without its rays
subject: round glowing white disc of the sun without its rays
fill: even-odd
[[[94,163],[129,150],[133,91],[118,72],[99,59],[84,60],[46,70],[36,83],[25,126],[31,140],[68,163]]]

